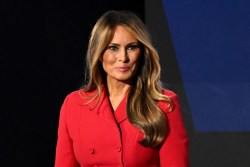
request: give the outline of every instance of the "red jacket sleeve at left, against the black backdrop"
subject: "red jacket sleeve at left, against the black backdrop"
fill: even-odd
[[[68,97],[64,100],[60,111],[55,167],[79,167],[75,159],[72,139],[67,129],[67,110],[69,109],[67,101]]]

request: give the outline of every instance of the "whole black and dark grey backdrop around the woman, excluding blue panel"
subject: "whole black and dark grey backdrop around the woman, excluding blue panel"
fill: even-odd
[[[249,166],[249,133],[194,129],[160,0],[1,1],[1,166],[53,166],[61,104],[80,87],[90,30],[109,9],[137,13],[168,55],[162,78],[182,104],[191,167]]]

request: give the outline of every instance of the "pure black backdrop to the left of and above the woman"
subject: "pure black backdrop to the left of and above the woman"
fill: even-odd
[[[106,10],[144,1],[1,1],[1,165],[54,164],[59,110],[82,83],[89,33]]]

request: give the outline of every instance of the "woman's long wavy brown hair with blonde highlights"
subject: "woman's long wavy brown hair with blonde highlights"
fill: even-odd
[[[170,106],[169,111],[172,109],[172,102],[162,94],[159,56],[144,23],[137,15],[129,11],[112,10],[97,20],[87,50],[87,84],[82,89],[85,92],[97,89],[89,102],[95,98],[99,101],[101,85],[106,77],[100,59],[111,42],[117,25],[126,28],[139,41],[142,49],[140,64],[127,101],[128,120],[144,133],[141,141],[143,146],[158,146],[167,136],[167,120],[157,102],[166,101]]]

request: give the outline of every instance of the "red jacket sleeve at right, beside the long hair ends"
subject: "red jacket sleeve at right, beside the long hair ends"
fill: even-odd
[[[174,103],[171,112],[166,113],[169,134],[160,148],[161,167],[189,167],[188,136],[184,127],[180,104],[176,94],[170,96]]]

